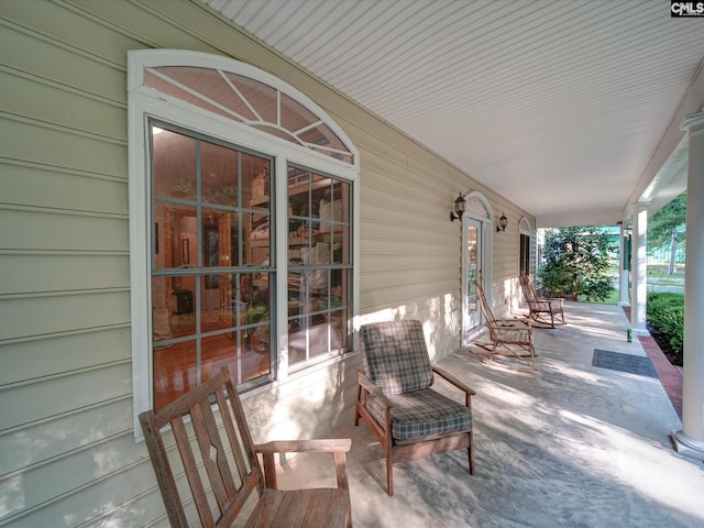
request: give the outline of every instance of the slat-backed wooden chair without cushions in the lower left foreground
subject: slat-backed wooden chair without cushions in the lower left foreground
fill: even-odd
[[[351,440],[273,441],[255,446],[227,366],[162,409],[142,413],[140,422],[173,527],[191,525],[167,454],[173,450],[167,450],[161,432],[167,425],[201,526],[230,527],[239,517],[242,517],[239,524],[245,520],[242,526],[250,528],[352,526],[345,457]],[[332,453],[338,487],[276,490],[274,455],[288,452]],[[262,455],[264,472],[257,453]],[[255,505],[250,509],[253,501]]]

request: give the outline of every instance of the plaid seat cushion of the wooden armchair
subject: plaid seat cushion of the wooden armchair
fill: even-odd
[[[427,388],[399,394],[389,398],[392,407],[392,437],[409,440],[472,429],[472,411],[462,404]],[[384,406],[370,397],[367,408],[384,424]]]

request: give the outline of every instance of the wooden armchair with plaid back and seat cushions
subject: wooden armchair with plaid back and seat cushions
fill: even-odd
[[[364,372],[358,372],[354,425],[362,418],[384,448],[386,492],[394,494],[393,465],[466,449],[474,474],[470,387],[433,367],[420,321],[375,322],[361,329]],[[430,388],[433,374],[464,394],[464,404]]]

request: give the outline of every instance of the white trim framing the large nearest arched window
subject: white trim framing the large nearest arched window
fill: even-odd
[[[309,148],[290,143],[286,140],[273,136],[243,123],[229,120],[224,117],[208,112],[207,110],[191,106],[180,99],[169,97],[152,88],[143,86],[143,72],[145,67],[157,66],[200,66],[222,69],[238,75],[243,75],[264,82],[280,90],[298,101],[318,116],[348,146],[352,154],[353,163],[349,164],[340,160],[326,156]],[[134,436],[142,439],[139,424],[139,415],[151,408],[152,394],[152,317],[151,299],[151,267],[150,255],[152,241],[147,237],[150,230],[151,188],[148,185],[148,119],[162,120],[186,130],[201,133],[208,136],[271,155],[274,158],[276,174],[286,174],[288,163],[304,165],[312,170],[321,170],[349,180],[352,184],[352,341],[350,350],[358,349],[359,330],[359,298],[360,298],[360,189],[359,189],[359,151],[348,135],[318,105],[307,96],[289,86],[282,79],[274,77],[258,68],[222,56],[199,52],[176,50],[146,50],[134,51],[128,54],[128,170],[129,170],[129,205],[130,205],[130,275],[131,275],[131,323],[132,323],[132,377],[133,377],[133,410]],[[286,204],[287,188],[285,185],[276,187],[276,204]],[[280,207],[280,206],[279,206]],[[287,231],[285,215],[276,215],[276,232]],[[287,265],[287,240],[277,237],[276,240],[276,292],[285,292],[287,288],[286,274],[280,271]],[[286,312],[277,305],[276,336],[277,343],[277,374],[273,385],[287,378],[288,359]],[[344,356],[338,356],[334,361],[342,361]],[[306,370],[297,373],[295,377],[305,375]]]

